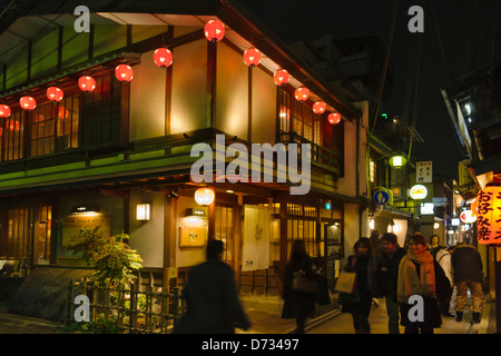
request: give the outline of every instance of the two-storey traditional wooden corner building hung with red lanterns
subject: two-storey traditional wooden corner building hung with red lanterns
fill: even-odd
[[[242,293],[277,295],[277,270],[292,241],[304,239],[333,283],[340,259],[367,235],[367,102],[341,100],[237,1],[86,1],[89,32],[77,30],[79,1],[17,3],[0,17],[0,103],[11,109],[0,119],[1,259],[26,259],[29,269],[81,266],[67,249],[71,237],[100,226],[130,236],[145,271],[167,280],[175,267],[181,284],[215,238]],[[217,42],[204,34],[210,20],[225,26]],[[173,53],[167,68],[154,61],[158,48]],[[261,51],[258,66],[244,63],[249,48]],[[118,65],[132,68],[130,82],[117,79]],[[278,69],[291,76],[282,86]],[[95,79],[94,91],[79,87],[82,76]],[[63,99],[50,100],[49,87]],[[299,87],[310,91],[304,101],[294,96]],[[27,96],[32,110],[20,106]],[[316,101],[325,112],[313,111]],[[333,112],[341,122],[328,122]],[[213,182],[190,175],[196,144],[214,150]],[[279,155],[258,158],[263,171],[273,168],[272,181],[232,182],[229,149],[250,152],[253,144],[283,144],[288,154],[291,144],[310,145],[306,194],[291,194],[302,184],[291,177],[278,181]],[[306,167],[301,150],[294,157]],[[203,186],[215,200],[194,218]],[[137,215],[144,207],[149,217]],[[252,217],[259,211],[264,218]],[[253,260],[253,244],[264,246],[265,261]]]

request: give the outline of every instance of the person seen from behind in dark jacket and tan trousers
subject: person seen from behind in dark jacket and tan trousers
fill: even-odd
[[[455,299],[455,320],[461,322],[466,306],[468,289],[471,291],[471,312],[473,322],[480,323],[483,303],[483,264],[480,254],[473,246],[459,245],[451,257],[452,268],[454,269],[454,283],[458,289]]]

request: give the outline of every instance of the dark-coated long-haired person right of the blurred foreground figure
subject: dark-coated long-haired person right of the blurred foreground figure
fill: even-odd
[[[315,295],[316,288],[311,290],[299,288],[297,279],[303,276],[311,285],[315,285],[316,276],[312,269],[312,258],[306,251],[304,240],[294,240],[291,251],[291,259],[285,266],[283,276],[283,294],[284,307],[282,309],[282,318],[295,318],[295,334],[305,333],[306,319],[315,313]]]

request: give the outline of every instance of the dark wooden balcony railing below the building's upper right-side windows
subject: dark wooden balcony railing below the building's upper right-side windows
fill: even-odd
[[[322,146],[318,146],[296,132],[281,132],[278,135],[278,141],[285,145],[287,144],[310,144],[312,147],[312,166],[321,168],[330,174],[334,174],[336,177],[341,176],[341,162],[340,156]]]

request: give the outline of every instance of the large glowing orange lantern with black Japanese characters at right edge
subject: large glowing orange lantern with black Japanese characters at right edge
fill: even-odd
[[[477,236],[479,244],[501,244],[500,186],[488,186],[477,196]]]

